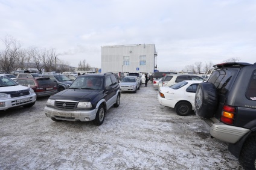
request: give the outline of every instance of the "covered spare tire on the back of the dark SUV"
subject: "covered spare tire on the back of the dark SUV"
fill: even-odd
[[[211,118],[217,109],[217,90],[213,83],[200,83],[194,99],[195,112],[199,117]]]

